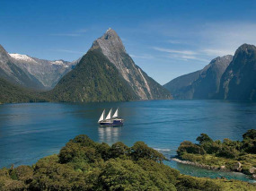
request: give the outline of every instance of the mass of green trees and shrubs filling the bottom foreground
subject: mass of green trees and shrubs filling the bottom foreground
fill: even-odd
[[[137,142],[94,143],[78,135],[58,155],[0,169],[0,190],[255,190],[238,180],[193,178],[163,164],[162,153]]]

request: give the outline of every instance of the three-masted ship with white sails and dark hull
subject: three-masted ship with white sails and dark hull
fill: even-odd
[[[124,119],[119,117],[119,109],[116,110],[114,115],[112,115],[112,109],[110,109],[107,117],[105,117],[104,109],[98,123],[101,126],[122,126],[124,124]]]

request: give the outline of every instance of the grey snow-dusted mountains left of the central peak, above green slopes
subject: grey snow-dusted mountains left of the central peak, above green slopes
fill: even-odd
[[[77,61],[50,61],[17,53],[9,54],[0,45],[0,78],[32,90],[52,89],[76,64]]]

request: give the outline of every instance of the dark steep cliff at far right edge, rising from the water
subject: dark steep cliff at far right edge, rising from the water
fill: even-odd
[[[220,81],[219,99],[256,100],[256,47],[243,44]]]

